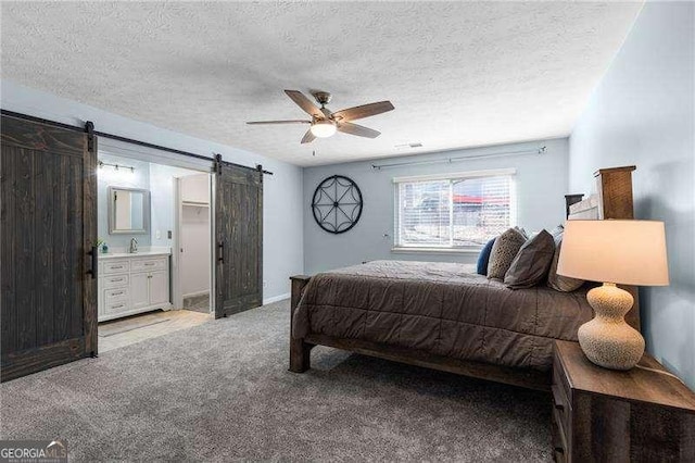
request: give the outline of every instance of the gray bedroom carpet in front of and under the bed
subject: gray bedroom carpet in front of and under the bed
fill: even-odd
[[[3,439],[67,440],[71,461],[549,461],[549,402],[316,348],[288,366],[289,303],[0,386]]]

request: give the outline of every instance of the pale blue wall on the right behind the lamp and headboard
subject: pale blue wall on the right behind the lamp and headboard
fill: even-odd
[[[695,4],[647,2],[570,138],[572,190],[634,164],[637,218],[666,223],[671,285],[641,288],[647,349],[695,388]]]

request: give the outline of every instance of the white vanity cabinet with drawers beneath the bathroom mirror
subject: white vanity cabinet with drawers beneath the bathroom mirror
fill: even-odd
[[[168,253],[102,256],[99,270],[99,322],[172,309]]]

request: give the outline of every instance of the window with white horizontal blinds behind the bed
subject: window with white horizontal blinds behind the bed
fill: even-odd
[[[396,249],[479,248],[516,224],[514,170],[393,182]]]

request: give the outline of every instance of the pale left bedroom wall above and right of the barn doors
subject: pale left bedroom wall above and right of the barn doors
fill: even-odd
[[[34,90],[7,79],[0,82],[0,105],[5,110],[65,124],[83,125],[85,121],[92,121],[97,130],[203,155],[212,155],[213,152],[216,152],[220,153],[226,161],[243,165],[263,164],[264,168],[275,173],[273,176],[266,175],[264,177],[263,267],[264,280],[266,281],[264,299],[268,301],[289,296],[288,277],[303,271],[301,167],[123,117],[77,101]],[[115,154],[130,152],[131,155],[144,159],[152,151],[105,139],[100,140],[100,148],[105,147],[106,142],[109,150]],[[175,154],[164,152],[156,152],[156,154],[181,162],[186,161]],[[187,162],[200,165],[199,162]]]

